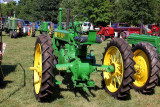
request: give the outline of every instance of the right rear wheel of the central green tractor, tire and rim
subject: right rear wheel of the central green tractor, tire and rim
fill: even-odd
[[[102,64],[112,65],[115,68],[113,73],[102,73],[102,83],[106,92],[116,99],[129,97],[135,73],[130,45],[121,38],[112,39],[105,48]]]

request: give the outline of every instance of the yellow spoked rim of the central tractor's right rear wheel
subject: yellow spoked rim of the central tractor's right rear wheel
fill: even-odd
[[[123,59],[121,52],[115,46],[109,47],[104,57],[104,65],[112,65],[115,71],[112,73],[103,72],[105,85],[110,92],[116,92],[123,80]]]

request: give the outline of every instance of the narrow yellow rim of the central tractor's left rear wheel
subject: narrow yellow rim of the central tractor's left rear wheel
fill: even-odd
[[[41,54],[41,45],[38,43],[35,50],[35,59],[34,59],[34,88],[36,94],[39,93],[41,88],[42,80],[42,54]]]

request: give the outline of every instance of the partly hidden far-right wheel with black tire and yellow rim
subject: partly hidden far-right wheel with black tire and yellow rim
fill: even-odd
[[[132,51],[136,62],[133,88],[139,93],[150,94],[158,81],[159,59],[156,48],[150,43],[140,42]]]

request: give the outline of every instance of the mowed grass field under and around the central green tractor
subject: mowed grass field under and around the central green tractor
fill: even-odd
[[[3,33],[3,42],[7,44],[2,62],[4,72],[4,86],[0,88],[1,107],[160,107],[160,87],[155,88],[152,95],[142,95],[130,91],[131,98],[126,101],[116,100],[108,95],[101,86],[101,73],[93,73],[92,80],[96,82],[96,88],[92,88],[92,94],[87,95],[81,90],[70,87],[69,78],[56,76],[62,83],[54,90],[54,95],[49,103],[39,103],[33,93],[33,53],[36,37],[19,37],[11,39]],[[100,45],[93,45],[96,62],[101,64],[105,41]]]

